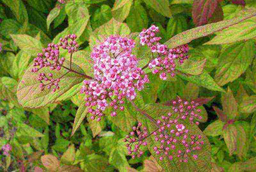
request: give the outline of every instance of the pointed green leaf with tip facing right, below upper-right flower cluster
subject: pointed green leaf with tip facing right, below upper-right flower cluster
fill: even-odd
[[[195,83],[198,86],[202,86],[202,87],[207,88],[209,90],[225,92],[225,90],[222,89],[213,80],[211,75],[209,75],[205,70],[203,70],[202,74],[200,74],[200,75],[185,76],[185,75],[178,74],[178,76],[180,78],[184,79],[184,80]]]

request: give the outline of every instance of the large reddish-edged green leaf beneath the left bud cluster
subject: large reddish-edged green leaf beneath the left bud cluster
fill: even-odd
[[[63,66],[69,66],[69,64],[70,62],[65,60]],[[68,70],[61,67],[60,71],[54,72],[54,77],[56,78],[66,74],[61,78],[59,82],[60,90],[52,93],[52,87],[50,90],[45,89],[44,91],[41,91],[39,88],[40,82],[38,82],[36,79],[37,73],[32,73],[31,68],[33,68],[33,65],[27,69],[17,89],[18,100],[24,107],[36,108],[45,106],[46,104],[53,102],[55,99],[67,92],[71,87],[84,80],[82,75],[73,72],[66,74]],[[84,74],[84,71],[74,63],[72,63],[72,69]],[[47,68],[43,68],[40,72],[45,72],[45,74],[49,73]]]

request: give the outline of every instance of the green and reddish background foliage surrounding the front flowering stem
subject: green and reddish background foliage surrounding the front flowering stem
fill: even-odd
[[[122,140],[139,115],[129,104],[115,118],[100,123],[85,119],[70,137],[83,101],[77,93],[80,85],[45,107],[22,108],[16,89],[25,70],[43,47],[69,33],[79,37],[74,61],[92,75],[90,51],[102,35],[136,33],[155,24],[164,43],[182,31],[255,8],[254,0],[1,0],[0,146],[12,145],[9,156],[1,152],[1,170],[163,170],[148,150],[139,159],[128,156]],[[190,62],[202,63],[199,71],[190,68],[193,76],[181,74],[167,81],[149,74],[149,90],[137,100],[146,104],[168,102],[176,95],[188,100],[208,97],[199,128],[211,143],[212,171],[256,170],[255,37],[254,17],[193,40]],[[145,52],[134,52],[141,66],[149,58]]]

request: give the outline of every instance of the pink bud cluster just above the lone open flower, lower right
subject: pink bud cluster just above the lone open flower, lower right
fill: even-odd
[[[199,121],[202,120],[203,117],[200,116],[201,109],[197,109],[199,106],[198,103],[195,101],[183,101],[181,98],[178,97],[178,100],[172,101],[172,110],[174,113],[179,113],[179,119],[185,120],[189,119],[189,122],[191,124],[195,123],[196,125],[199,125]]]

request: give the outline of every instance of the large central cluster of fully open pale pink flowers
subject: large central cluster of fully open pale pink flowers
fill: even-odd
[[[142,90],[149,82],[148,76],[137,67],[138,59],[131,54],[134,45],[132,39],[110,35],[93,48],[95,80],[85,80],[80,91],[86,95],[85,106],[89,107],[92,120],[97,117],[100,121],[108,106],[114,109],[111,116],[116,116],[118,109],[124,110],[124,98],[133,100],[137,96],[135,90]]]

